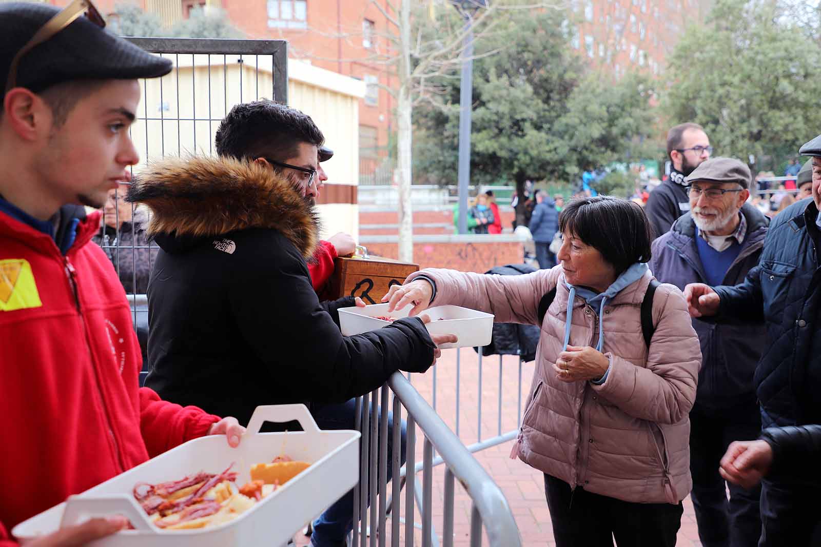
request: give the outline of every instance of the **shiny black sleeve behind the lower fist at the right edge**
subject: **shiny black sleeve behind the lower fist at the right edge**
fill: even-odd
[[[821,459],[821,426],[768,427],[762,440],[773,448],[771,478],[814,476]],[[817,482],[817,481],[816,481]]]

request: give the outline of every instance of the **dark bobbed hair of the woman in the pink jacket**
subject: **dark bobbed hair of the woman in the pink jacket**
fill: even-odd
[[[574,199],[559,213],[559,230],[595,248],[621,275],[635,262],[649,262],[653,240],[644,209],[612,196]]]

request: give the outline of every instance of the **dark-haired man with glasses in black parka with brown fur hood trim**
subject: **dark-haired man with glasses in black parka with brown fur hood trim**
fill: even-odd
[[[128,199],[149,207],[160,247],[145,385],[164,398],[230,408],[241,423],[260,404],[307,403],[320,427],[351,429],[353,398],[399,370],[425,372],[437,344],[456,340],[431,337],[428,317],[342,336],[338,309],[364,303],[319,302],[308,261],[323,143],[303,112],[242,103],[219,125],[218,157],[158,162],[131,185]],[[352,516],[351,494],[323,514],[312,543],[344,545]]]

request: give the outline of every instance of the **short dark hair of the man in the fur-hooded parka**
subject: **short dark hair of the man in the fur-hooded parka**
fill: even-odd
[[[310,116],[273,101],[237,104],[219,124],[214,144],[220,156],[270,157],[282,162],[300,143],[322,146],[325,137]]]

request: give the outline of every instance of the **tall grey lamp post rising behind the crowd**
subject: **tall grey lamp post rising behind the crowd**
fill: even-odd
[[[473,110],[473,16],[486,0],[451,0],[465,18],[459,91],[459,233],[467,233],[467,194],[470,182],[470,115]]]

